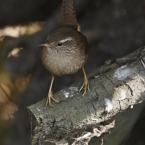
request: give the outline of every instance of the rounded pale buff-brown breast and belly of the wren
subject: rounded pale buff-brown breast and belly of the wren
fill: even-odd
[[[84,66],[87,55],[79,50],[50,51],[42,50],[42,63],[44,67],[55,75],[73,74]]]

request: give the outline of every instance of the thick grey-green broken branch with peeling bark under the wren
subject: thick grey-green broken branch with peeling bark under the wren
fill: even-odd
[[[78,92],[82,82],[54,94],[59,104],[46,99],[29,106],[37,120],[32,145],[42,142],[88,144],[114,128],[110,119],[145,98],[145,48],[106,64],[89,75],[90,92]],[[104,122],[101,125],[101,122]],[[63,143],[63,144],[65,144]]]

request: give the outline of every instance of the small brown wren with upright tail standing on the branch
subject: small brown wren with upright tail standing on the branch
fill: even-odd
[[[48,36],[46,43],[40,46],[44,46],[41,54],[42,64],[52,74],[46,105],[51,105],[51,99],[58,102],[52,93],[55,75],[73,74],[82,68],[84,83],[80,91],[84,88],[85,94],[89,90],[84,70],[88,58],[88,43],[86,37],[77,31],[73,0],[63,0],[58,28]]]

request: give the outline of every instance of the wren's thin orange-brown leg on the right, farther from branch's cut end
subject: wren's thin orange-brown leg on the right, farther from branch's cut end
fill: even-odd
[[[83,96],[84,96],[86,94],[86,91],[87,90],[90,91],[90,89],[89,89],[89,81],[88,81],[87,75],[85,73],[84,67],[82,67],[82,70],[83,70],[83,74],[84,74],[84,82],[79,91],[81,91],[84,88],[84,93],[83,93]]]

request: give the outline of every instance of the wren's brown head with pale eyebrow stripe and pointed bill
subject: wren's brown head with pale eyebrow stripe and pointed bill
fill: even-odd
[[[44,46],[47,51],[69,51],[77,49],[86,39],[84,35],[71,27],[62,27],[51,33]]]

